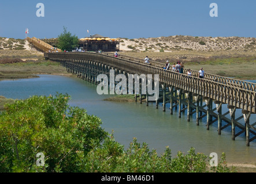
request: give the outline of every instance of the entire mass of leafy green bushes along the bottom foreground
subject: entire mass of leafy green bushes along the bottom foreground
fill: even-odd
[[[146,143],[130,147],[101,128],[101,120],[68,105],[67,94],[34,96],[5,105],[0,113],[0,172],[231,172],[225,155],[217,167],[206,155],[169,148],[158,156]],[[36,155],[43,153],[44,166]],[[42,159],[42,158],[40,158]]]

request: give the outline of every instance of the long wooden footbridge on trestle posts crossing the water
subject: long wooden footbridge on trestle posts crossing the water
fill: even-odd
[[[198,71],[192,70],[192,76],[187,76],[186,68],[184,74],[180,74],[164,70],[162,63],[146,64],[143,59],[125,55],[114,57],[113,53],[44,52],[44,57],[46,60],[59,62],[68,72],[95,84],[98,84],[99,74],[109,76],[110,70],[114,70],[116,75],[124,74],[127,77],[129,74],[158,74],[161,93],[155,100],[156,108],[161,102],[163,111],[166,111],[166,104],[169,103],[170,114],[173,114],[173,109],[179,109],[179,117],[186,110],[187,121],[196,114],[196,125],[199,125],[199,120],[206,117],[206,129],[209,130],[210,125],[216,123],[219,135],[223,129],[231,127],[232,140],[244,133],[247,146],[256,139],[256,122],[250,123],[251,115],[256,112],[255,83],[208,73],[204,79],[200,79],[197,77]],[[136,101],[138,98],[140,104],[145,98],[146,105],[149,105],[149,95],[143,95],[142,90],[135,94]],[[224,105],[227,106],[227,112],[222,112],[222,109],[225,109],[222,108]],[[236,117],[235,114],[238,113],[240,115]]]

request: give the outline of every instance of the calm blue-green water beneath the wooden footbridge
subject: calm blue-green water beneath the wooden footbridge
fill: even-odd
[[[144,103],[103,101],[110,95],[98,95],[96,87],[78,78],[40,75],[40,78],[0,81],[0,95],[25,99],[32,95],[55,95],[57,91],[68,93],[72,97],[70,105],[85,108],[88,114],[101,118],[102,127],[107,132],[114,130],[116,141],[125,147],[136,137],[140,143],[149,144],[151,150],[157,150],[158,154],[162,154],[166,146],[172,150],[173,156],[177,151],[187,152],[194,147],[196,152],[207,155],[216,152],[219,158],[225,152],[228,162],[256,161],[256,143],[246,147],[244,133],[232,141],[230,128],[218,135],[215,123],[210,126],[210,131],[206,131],[206,118],[196,126],[195,114],[187,122],[187,112],[181,114],[181,118],[175,110],[170,115],[169,104],[166,112],[162,112],[161,104],[159,109],[155,109],[154,103],[146,106]],[[222,109],[226,112],[225,107]],[[239,112],[237,114],[239,117]],[[250,122],[255,121],[256,118],[251,117]],[[243,120],[239,122],[244,124]]]

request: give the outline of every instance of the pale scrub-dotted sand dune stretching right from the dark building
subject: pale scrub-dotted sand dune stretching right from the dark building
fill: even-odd
[[[157,38],[120,38],[121,51],[172,52],[192,51],[256,51],[256,39],[251,37],[169,36]]]

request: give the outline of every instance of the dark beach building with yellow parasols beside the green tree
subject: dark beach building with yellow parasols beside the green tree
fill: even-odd
[[[109,37],[94,34],[79,40],[79,47],[84,51],[103,51],[113,52],[119,51],[120,43],[118,39],[110,39]]]

